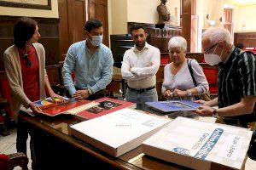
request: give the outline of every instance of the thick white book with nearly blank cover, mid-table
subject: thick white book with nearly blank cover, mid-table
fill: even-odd
[[[114,111],[70,127],[73,136],[111,156],[121,156],[141,145],[170,119],[129,108]]]

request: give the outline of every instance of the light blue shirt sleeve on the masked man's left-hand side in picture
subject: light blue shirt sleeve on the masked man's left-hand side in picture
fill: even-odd
[[[73,46],[68,48],[66,58],[64,60],[63,68],[62,68],[62,77],[64,81],[64,86],[67,88],[69,94],[73,95],[76,92],[76,88],[74,86],[72,73],[74,71],[74,67],[76,64],[75,59],[75,49]]]

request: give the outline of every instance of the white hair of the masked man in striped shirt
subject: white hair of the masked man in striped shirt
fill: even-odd
[[[218,41],[227,42],[232,44],[230,31],[221,27],[211,27],[207,31],[203,32],[202,38],[209,38],[211,43],[217,43]]]

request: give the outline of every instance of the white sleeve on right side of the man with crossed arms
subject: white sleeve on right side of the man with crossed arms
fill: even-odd
[[[151,62],[153,63],[153,65],[143,68],[132,67],[131,73],[140,78],[154,76],[160,67],[160,50],[158,48],[155,48],[152,55],[153,56]]]

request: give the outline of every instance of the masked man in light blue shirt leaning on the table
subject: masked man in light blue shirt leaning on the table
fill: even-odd
[[[112,80],[113,55],[102,44],[101,20],[88,20],[84,30],[86,40],[73,43],[67,51],[62,69],[64,85],[75,99],[99,99]]]

